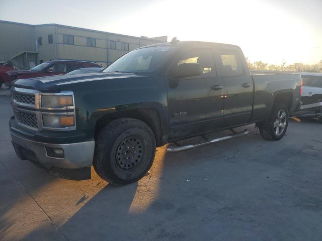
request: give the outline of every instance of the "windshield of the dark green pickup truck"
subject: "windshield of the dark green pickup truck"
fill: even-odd
[[[151,73],[165,62],[171,52],[170,47],[136,49],[123,55],[103,72]]]

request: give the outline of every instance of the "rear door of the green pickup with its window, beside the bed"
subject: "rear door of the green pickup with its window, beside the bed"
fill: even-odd
[[[233,127],[250,121],[253,109],[253,81],[236,49],[218,49],[216,61],[224,82],[223,126]]]

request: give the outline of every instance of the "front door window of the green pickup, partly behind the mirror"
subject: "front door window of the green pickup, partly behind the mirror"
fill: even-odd
[[[202,68],[202,76],[215,76],[215,61],[211,49],[196,49],[185,53],[178,65],[183,63],[199,63]]]

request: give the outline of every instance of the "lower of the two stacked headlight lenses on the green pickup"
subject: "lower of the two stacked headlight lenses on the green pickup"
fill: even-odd
[[[66,128],[75,126],[73,114],[42,114],[42,121],[44,128]]]

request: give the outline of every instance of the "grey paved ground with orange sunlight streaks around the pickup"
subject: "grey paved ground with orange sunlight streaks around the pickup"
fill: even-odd
[[[114,187],[57,178],[11,145],[0,89],[0,240],[321,240],[322,124],[197,149],[158,148],[150,173]],[[239,130],[243,130],[240,128]],[[219,133],[216,135],[224,135]]]

